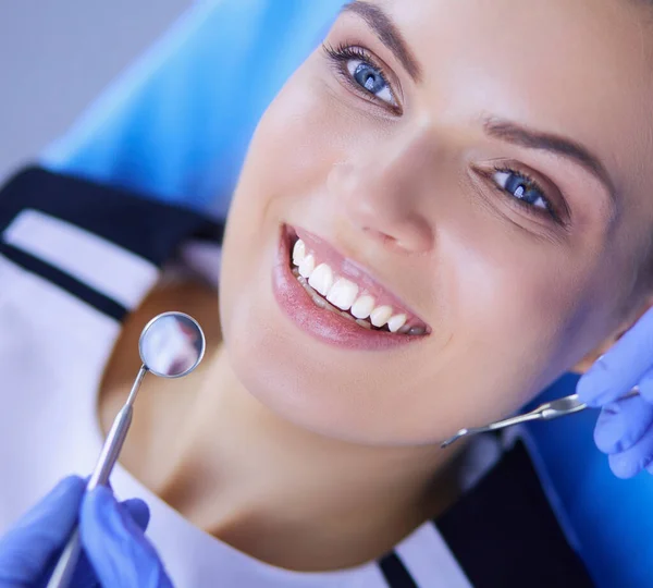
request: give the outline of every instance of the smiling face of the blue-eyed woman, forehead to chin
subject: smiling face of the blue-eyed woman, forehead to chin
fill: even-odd
[[[653,223],[649,10],[349,5],[261,120],[235,195],[221,318],[247,389],[323,434],[430,443],[517,409],[609,335]],[[313,303],[298,236],[333,274],[316,289],[344,278],[335,305],[405,328]]]

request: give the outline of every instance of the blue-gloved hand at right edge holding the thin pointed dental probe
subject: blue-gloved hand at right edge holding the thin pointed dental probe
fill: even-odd
[[[621,399],[632,387],[640,394]],[[580,399],[601,407],[596,446],[619,478],[653,474],[653,309],[580,378]]]

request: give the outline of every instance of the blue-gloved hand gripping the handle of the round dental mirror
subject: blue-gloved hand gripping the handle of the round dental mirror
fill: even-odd
[[[0,586],[40,586],[50,576],[77,520],[85,487],[82,478],[65,478],[0,538]],[[72,587],[172,586],[164,573],[157,573],[159,584],[150,581],[155,577],[151,569],[162,572],[158,559],[156,566],[151,559],[146,560],[149,567],[140,561],[146,549],[148,555],[153,553],[143,534],[148,519],[149,511],[140,500],[119,504],[107,488],[84,497],[79,530],[85,553]]]

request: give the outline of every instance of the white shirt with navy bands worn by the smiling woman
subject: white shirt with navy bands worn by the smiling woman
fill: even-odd
[[[0,534],[59,479],[93,470],[103,442],[97,396],[121,318],[169,254],[195,252],[187,262],[214,279],[219,242],[189,245],[210,226],[190,211],[40,170],[0,193]],[[204,532],[120,464],[111,483],[122,499],[148,503],[148,537],[177,587],[471,586],[432,522],[381,564],[296,573]]]

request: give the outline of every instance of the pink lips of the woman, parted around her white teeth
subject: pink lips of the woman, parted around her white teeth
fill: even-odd
[[[386,350],[422,339],[420,335],[365,329],[354,320],[319,308],[291,270],[289,248],[294,234],[295,231],[287,226],[284,226],[281,231],[280,246],[272,274],[272,286],[278,304],[297,327],[324,343],[355,350]],[[409,323],[419,321],[414,314],[405,310],[405,306],[395,296],[382,289],[362,269],[353,261],[345,259],[323,240],[300,229],[296,230],[296,234],[306,243],[307,248],[318,253],[319,262],[324,261],[333,268],[337,268],[340,275],[347,277],[361,285],[374,295],[379,304],[389,304],[397,311],[405,313],[409,317]],[[421,323],[421,321],[419,322]]]

